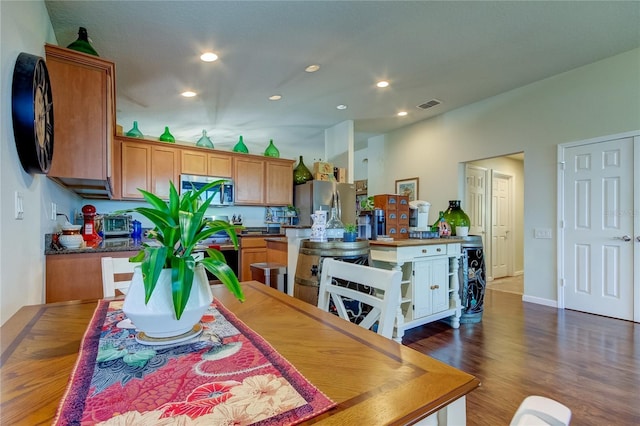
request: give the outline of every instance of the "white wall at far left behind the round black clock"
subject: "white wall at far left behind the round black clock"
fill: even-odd
[[[44,175],[25,173],[13,137],[11,83],[16,58],[21,52],[44,57],[44,43],[56,43],[44,2],[2,1],[0,16],[0,321],[4,324],[21,306],[44,303],[44,234],[57,228],[50,219],[51,202],[67,213],[79,199]],[[16,191],[24,196],[24,220],[14,219]]]

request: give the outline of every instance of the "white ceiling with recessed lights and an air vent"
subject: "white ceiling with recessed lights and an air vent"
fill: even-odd
[[[630,1],[45,1],[116,63],[117,121],[295,155],[353,120],[367,138],[640,46]],[[203,63],[206,50],[219,59]],[[311,64],[315,73],[305,72]],[[386,79],[390,86],[375,83]],[[198,92],[183,98],[184,90]],[[280,101],[269,96],[279,94]],[[422,110],[432,99],[442,103]],[[347,105],[338,110],[339,104]],[[398,117],[397,112],[408,112]]]

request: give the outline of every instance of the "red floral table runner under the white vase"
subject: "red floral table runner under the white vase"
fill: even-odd
[[[181,343],[140,344],[123,319],[99,302],[54,424],[289,425],[336,405],[217,300]]]

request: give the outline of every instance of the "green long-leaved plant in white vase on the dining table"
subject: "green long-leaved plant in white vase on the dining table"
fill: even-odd
[[[241,227],[208,219],[207,208],[215,194],[204,202],[200,198],[219,184],[211,182],[179,196],[170,182],[168,202],[139,189],[150,207],[126,210],[140,213],[155,225],[148,235],[155,242],[145,243],[130,258],[141,265],[136,268],[123,305],[125,315],[149,337],[177,336],[199,323],[213,299],[205,268],[244,301],[238,278],[220,251],[208,249],[209,257],[199,260],[193,256],[198,243],[219,231],[225,231],[238,248],[236,229]]]

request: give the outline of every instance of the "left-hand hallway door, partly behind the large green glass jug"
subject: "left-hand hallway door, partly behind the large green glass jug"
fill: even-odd
[[[465,167],[465,213],[469,216],[469,235],[480,235],[485,246],[487,215],[487,169],[467,164]]]

